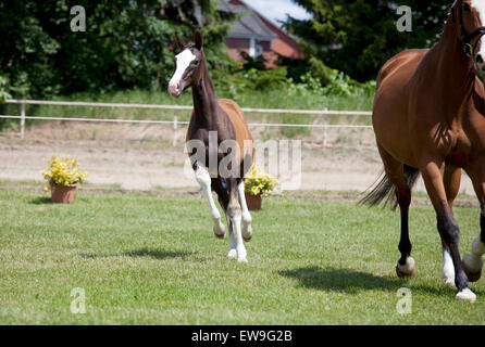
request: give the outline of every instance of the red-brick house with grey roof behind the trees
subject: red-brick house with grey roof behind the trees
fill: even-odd
[[[278,55],[290,59],[302,57],[297,42],[271,21],[258,13],[241,0],[224,0],[219,11],[240,14],[239,21],[233,24],[225,44],[229,56],[244,61],[241,52],[251,57],[263,55],[266,67],[276,67]]]

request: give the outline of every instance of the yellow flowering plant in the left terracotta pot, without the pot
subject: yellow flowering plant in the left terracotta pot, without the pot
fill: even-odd
[[[49,171],[42,170],[42,176],[49,181],[49,184],[71,185],[82,183],[88,177],[87,172],[79,170],[79,163],[77,159],[70,158],[69,154],[61,159],[53,155],[52,158],[46,159],[49,165]]]

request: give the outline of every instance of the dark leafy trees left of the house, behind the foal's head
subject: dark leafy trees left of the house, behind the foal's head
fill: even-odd
[[[173,37],[201,27],[206,54],[229,65],[222,42],[231,18],[213,0],[79,0],[86,31],[72,31],[71,2],[0,1],[0,77],[21,98],[165,86]]]

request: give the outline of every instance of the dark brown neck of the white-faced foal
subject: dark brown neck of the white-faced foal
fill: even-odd
[[[212,129],[217,123],[217,100],[206,61],[201,64],[201,79],[192,86],[194,113],[199,124]]]

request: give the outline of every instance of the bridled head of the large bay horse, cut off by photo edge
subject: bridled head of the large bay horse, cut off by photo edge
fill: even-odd
[[[464,53],[481,74],[485,72],[485,0],[457,0],[452,11]]]

